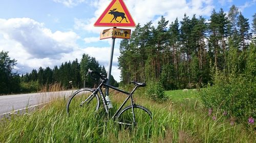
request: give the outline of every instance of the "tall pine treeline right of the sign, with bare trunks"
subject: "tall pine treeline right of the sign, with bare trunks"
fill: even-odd
[[[228,15],[220,9],[213,10],[208,20],[184,14],[180,22],[176,18],[168,23],[162,16],[156,27],[151,21],[144,26],[138,24],[131,39],[121,41],[121,84],[160,80],[166,90],[195,88],[212,82],[214,71],[230,75],[231,64],[236,60],[230,55],[231,50],[241,58],[237,65],[240,72],[245,68],[256,14],[252,32],[248,19],[236,6],[230,8]]]

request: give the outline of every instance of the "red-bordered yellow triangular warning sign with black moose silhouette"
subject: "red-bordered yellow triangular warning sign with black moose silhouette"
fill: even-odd
[[[94,26],[135,27],[136,24],[123,0],[113,0],[94,23]]]

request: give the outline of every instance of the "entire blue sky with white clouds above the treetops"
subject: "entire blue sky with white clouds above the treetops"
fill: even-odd
[[[157,22],[163,15],[169,23],[184,13],[191,18],[209,18],[213,9],[227,13],[232,5],[252,21],[256,0],[123,0],[135,23]],[[94,27],[110,0],[0,0],[0,51],[9,51],[17,60],[15,71],[30,73],[39,67],[53,68],[61,63],[81,60],[87,53],[108,71],[111,39],[99,40],[100,31],[110,27]],[[125,27],[124,27],[125,28]],[[127,27],[129,28],[129,27]],[[130,28],[134,29],[134,28]],[[119,45],[114,49],[112,75],[120,81]]]

